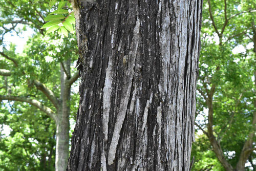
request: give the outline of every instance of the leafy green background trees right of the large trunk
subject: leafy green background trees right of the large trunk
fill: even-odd
[[[247,160],[254,168],[251,159],[255,154],[251,152],[255,149],[256,131],[255,54],[250,45],[255,45],[255,2],[208,1],[203,18],[197,86],[197,115],[201,117],[196,125],[205,136],[199,136],[195,144],[196,161],[205,158],[197,155],[209,141],[208,149],[225,170],[244,170]],[[243,52],[234,54],[238,47]],[[201,163],[195,163],[195,170],[219,170],[218,165],[209,163],[205,167]]]

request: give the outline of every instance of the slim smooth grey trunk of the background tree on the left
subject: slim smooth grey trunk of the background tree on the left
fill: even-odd
[[[70,86],[67,85],[67,75],[65,74],[63,67],[66,67],[66,72],[70,75],[70,60],[66,62],[66,66],[60,66],[61,92],[60,106],[58,108],[56,120],[56,171],[65,170],[69,158]]]

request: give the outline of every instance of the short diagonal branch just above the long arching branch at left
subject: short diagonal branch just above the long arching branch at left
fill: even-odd
[[[55,97],[55,95],[53,94],[53,92],[50,89],[47,89],[45,84],[41,83],[40,81],[34,80],[33,82],[35,83],[36,88],[40,90],[42,93],[44,93],[47,96],[47,98],[53,103],[55,108],[58,109],[59,102]]]

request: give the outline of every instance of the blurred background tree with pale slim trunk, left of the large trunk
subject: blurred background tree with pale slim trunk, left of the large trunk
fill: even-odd
[[[65,170],[69,156],[71,86],[78,78],[78,72],[71,68],[71,65],[74,64],[73,62],[77,58],[76,40],[72,37],[74,35],[69,38],[59,38],[57,34],[52,36],[45,35],[45,32],[40,28],[46,23],[44,18],[46,14],[50,13],[50,7],[44,2],[1,1],[0,6],[3,7],[1,8],[0,25],[2,46],[2,51],[0,51],[2,56],[0,63],[0,75],[2,75],[0,78],[2,79],[0,100],[3,100],[2,105],[4,106],[6,106],[5,100],[15,101],[15,103],[9,104],[14,104],[19,108],[16,111],[17,109],[15,108],[6,109],[6,107],[3,107],[3,110],[5,110],[6,115],[8,112],[10,115],[20,115],[28,112],[24,114],[27,117],[20,117],[20,119],[27,118],[23,126],[29,126],[32,121],[28,119],[32,119],[32,117],[28,117],[28,114],[38,114],[39,116],[36,115],[33,118],[33,120],[43,119],[40,120],[42,126],[39,129],[41,131],[38,133],[50,131],[48,132],[49,134],[45,134],[48,135],[47,137],[36,133],[37,136],[30,140],[28,137],[31,134],[22,132],[23,129],[17,130],[16,125],[10,124],[15,119],[5,116],[2,125],[5,123],[10,124],[12,129],[11,137],[16,140],[22,138],[20,142],[15,141],[20,149],[20,151],[16,151],[16,154],[26,154],[31,159],[29,163],[24,161],[23,163],[17,162],[20,164],[15,164],[16,168],[30,169],[39,168],[44,165],[46,170],[52,169],[53,164],[51,163],[53,163],[52,157],[55,150],[55,169]],[[54,8],[58,8],[58,6]],[[17,54],[14,45],[10,45],[9,48],[6,46],[4,37],[7,33],[11,32],[18,34],[21,31],[19,29],[20,24],[32,28],[35,33],[28,41],[24,53]],[[26,104],[20,102],[26,102]],[[24,106],[33,110],[24,110]],[[42,115],[42,113],[47,116]],[[54,122],[55,129],[53,129],[52,125]],[[33,131],[37,131],[37,129],[33,129]],[[52,143],[50,144],[51,140],[49,138],[55,139],[55,136],[56,146],[53,146]],[[11,141],[10,137],[1,140],[6,145]],[[33,150],[30,146],[30,152],[28,152],[26,145],[29,146],[29,143],[32,143],[32,141],[38,142],[35,147],[36,150]],[[26,145],[22,148],[20,145],[23,143]],[[15,149],[12,147],[12,142],[10,142],[10,145],[2,149],[4,154],[11,156],[9,160],[14,159],[12,152]],[[36,157],[38,158],[36,162],[38,163],[39,160],[40,164],[34,165],[35,160],[32,162],[32,158]],[[18,159],[16,158],[13,162]],[[48,161],[46,162],[46,160]],[[47,166],[46,163],[48,163]],[[11,168],[15,167],[15,165]]]

